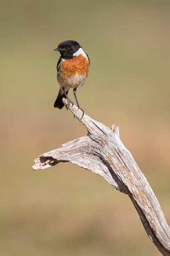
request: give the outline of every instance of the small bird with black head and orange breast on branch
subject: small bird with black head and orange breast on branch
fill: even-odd
[[[76,90],[82,86],[87,79],[90,59],[76,41],[64,41],[54,50],[59,51],[61,54],[57,63],[57,81],[60,85],[60,89],[57,99],[54,102],[54,107],[62,109],[64,106],[62,101],[63,97],[68,99],[68,92],[73,88],[78,109],[81,109],[77,100]],[[84,110],[81,110],[84,115]]]

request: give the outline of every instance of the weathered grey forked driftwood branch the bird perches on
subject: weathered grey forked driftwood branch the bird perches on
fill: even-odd
[[[66,99],[63,102],[67,104]],[[170,255],[170,228],[146,177],[122,144],[118,127],[109,129],[86,114],[82,118],[75,105],[70,104],[69,109],[87,128],[87,135],[40,155],[33,169],[71,162],[100,175],[113,188],[128,194],[150,239],[163,255]]]

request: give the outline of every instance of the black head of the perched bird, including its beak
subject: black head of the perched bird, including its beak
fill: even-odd
[[[63,59],[72,59],[73,54],[78,51],[81,46],[78,42],[73,40],[67,40],[58,45],[58,48],[54,50],[58,50],[61,53]]]

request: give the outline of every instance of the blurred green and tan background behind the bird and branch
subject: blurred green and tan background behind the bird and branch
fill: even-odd
[[[31,166],[87,133],[53,107],[53,49],[76,40],[91,60],[80,106],[119,126],[170,224],[170,1],[0,3],[0,256],[161,255],[128,196],[101,177],[70,163]]]

